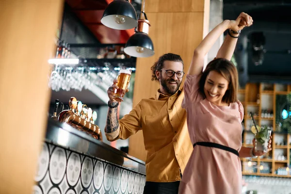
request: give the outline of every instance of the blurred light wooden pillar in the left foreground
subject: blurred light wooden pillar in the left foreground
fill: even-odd
[[[0,193],[31,194],[47,127],[48,59],[63,0],[0,3]]]

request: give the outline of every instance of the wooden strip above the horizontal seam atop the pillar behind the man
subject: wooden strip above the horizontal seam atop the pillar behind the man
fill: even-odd
[[[204,12],[204,0],[146,0],[146,13]]]

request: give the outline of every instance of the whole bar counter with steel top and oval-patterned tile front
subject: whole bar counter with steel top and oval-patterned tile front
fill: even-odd
[[[145,162],[66,123],[48,121],[35,194],[143,194]]]

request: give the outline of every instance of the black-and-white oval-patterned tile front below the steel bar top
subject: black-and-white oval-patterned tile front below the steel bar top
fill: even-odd
[[[44,143],[33,194],[143,194],[146,176]]]

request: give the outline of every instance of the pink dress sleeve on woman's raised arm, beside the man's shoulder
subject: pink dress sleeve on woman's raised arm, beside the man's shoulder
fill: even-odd
[[[199,81],[201,74],[198,75],[187,75],[184,83],[184,99],[182,102],[182,108],[186,109],[187,106],[193,102],[197,102],[203,99],[199,92]]]

